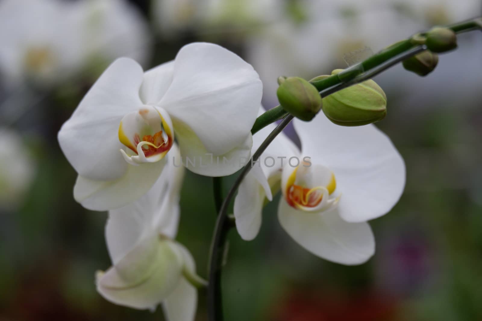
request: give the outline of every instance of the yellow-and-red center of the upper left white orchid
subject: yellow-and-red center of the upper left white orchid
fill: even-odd
[[[171,119],[158,108],[141,108],[122,118],[119,141],[134,153],[128,155],[121,150],[128,163],[138,165],[159,161],[169,152],[174,142]]]

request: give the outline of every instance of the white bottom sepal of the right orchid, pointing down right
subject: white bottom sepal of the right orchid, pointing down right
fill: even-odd
[[[345,265],[362,264],[375,253],[367,223],[348,223],[337,210],[304,212],[282,199],[278,218],[283,229],[312,254]]]

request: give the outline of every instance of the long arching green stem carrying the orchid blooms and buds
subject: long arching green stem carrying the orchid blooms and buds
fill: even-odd
[[[477,18],[468,22],[463,22],[460,24],[455,24],[449,26],[455,32],[464,32],[473,29],[482,29],[482,19]],[[334,75],[325,78],[321,81],[313,83],[315,87],[320,90],[321,97],[326,97],[336,91],[342,90],[354,84],[360,83],[371,77],[375,77],[377,74],[383,72],[389,67],[402,62],[403,60],[420,53],[427,48],[424,45],[414,44],[410,39],[402,40],[395,43],[394,45],[388,47],[385,50],[376,53],[372,57],[366,59],[361,64],[362,68],[353,68],[349,72],[345,73],[344,77],[338,77]],[[343,79],[343,81],[341,80]],[[255,133],[259,129],[267,126],[268,124],[279,119],[280,116],[286,113],[280,106],[275,107],[265,114],[261,115],[256,119],[253,126],[252,132]],[[268,135],[265,141],[259,146],[252,157],[252,162],[256,161],[261,154],[265,151],[268,145],[275,139],[275,137],[281,133],[283,128],[285,128],[293,119],[292,115],[284,116],[281,123]],[[244,179],[246,174],[251,169],[252,162],[248,162],[248,165],[243,167],[241,174],[238,176],[233,186],[228,192],[228,195],[222,202],[220,206],[219,214],[216,220],[216,225],[214,228],[213,240],[210,249],[210,259],[209,259],[209,285],[208,285],[208,317],[209,321],[222,321],[223,311],[222,311],[222,295],[221,295],[221,269],[222,260],[225,253],[225,244],[228,232],[233,224],[230,224],[230,219],[228,217],[227,211],[228,206],[234,197],[234,194],[238,190],[241,181]]]

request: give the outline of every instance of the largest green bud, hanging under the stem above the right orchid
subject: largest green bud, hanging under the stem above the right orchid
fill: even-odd
[[[343,69],[336,69],[336,75]],[[320,76],[314,79],[323,79]],[[323,113],[341,126],[362,126],[382,120],[387,115],[387,96],[373,80],[350,86],[323,98]]]

